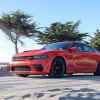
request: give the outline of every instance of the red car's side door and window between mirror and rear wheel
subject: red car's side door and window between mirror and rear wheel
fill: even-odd
[[[74,55],[75,72],[95,72],[97,62],[94,59],[95,51],[93,48],[82,43],[77,43],[74,46],[78,50]]]

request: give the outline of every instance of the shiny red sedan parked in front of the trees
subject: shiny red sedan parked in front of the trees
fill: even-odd
[[[41,50],[16,54],[10,65],[11,71],[23,77],[39,74],[63,77],[73,73],[100,75],[100,53],[81,42],[57,42]]]

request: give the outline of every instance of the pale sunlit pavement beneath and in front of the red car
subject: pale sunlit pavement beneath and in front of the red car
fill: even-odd
[[[100,100],[100,76],[0,77],[0,100]]]

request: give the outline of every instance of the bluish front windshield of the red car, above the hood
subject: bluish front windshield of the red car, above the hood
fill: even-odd
[[[44,46],[42,50],[65,50],[70,46],[70,43],[62,42],[62,43],[52,43]]]

